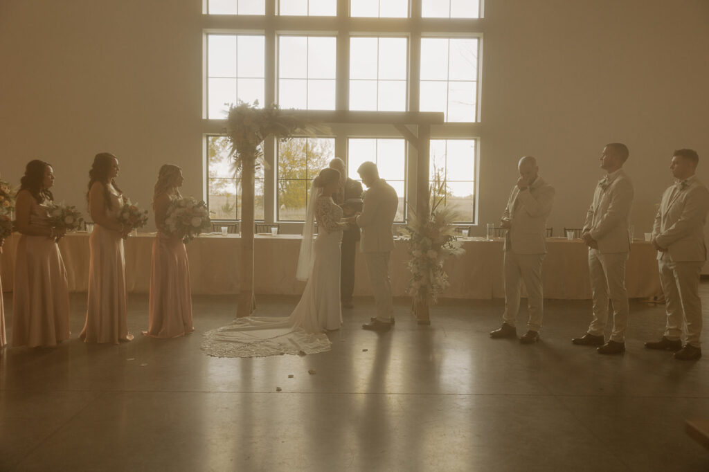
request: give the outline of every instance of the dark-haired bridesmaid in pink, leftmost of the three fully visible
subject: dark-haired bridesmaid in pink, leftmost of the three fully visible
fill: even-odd
[[[55,346],[69,339],[69,281],[59,252],[65,230],[50,227],[49,190],[54,169],[47,162],[27,164],[17,193],[13,347]]]

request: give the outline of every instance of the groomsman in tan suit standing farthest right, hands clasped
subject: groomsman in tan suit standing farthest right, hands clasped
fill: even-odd
[[[694,360],[702,356],[702,302],[699,276],[706,260],[704,223],[709,210],[709,190],[694,175],[699,156],[691,149],[674,152],[670,169],[676,179],[662,195],[652,228],[657,248],[662,291],[666,300],[667,325],[658,342],[646,342],[649,349],[677,351],[675,359]],[[686,343],[682,346],[682,327]]]

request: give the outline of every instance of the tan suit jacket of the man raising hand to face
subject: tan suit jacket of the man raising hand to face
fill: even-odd
[[[510,223],[505,250],[515,254],[546,254],[547,218],[552,213],[554,187],[541,177],[527,189],[513,186],[502,219]]]

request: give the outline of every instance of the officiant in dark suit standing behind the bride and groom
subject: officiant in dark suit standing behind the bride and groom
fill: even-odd
[[[333,200],[342,207],[345,218],[362,211],[362,184],[347,177],[345,161],[339,157],[330,161],[330,169],[340,172],[340,190],[333,193]],[[354,270],[357,257],[357,242],[359,242],[359,227],[350,223],[342,232],[342,249],[340,251],[340,300],[342,308],[352,308],[352,292],[354,291]]]

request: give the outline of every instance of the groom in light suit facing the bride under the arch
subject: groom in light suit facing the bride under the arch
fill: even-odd
[[[389,280],[389,254],[394,247],[391,227],[396,216],[398,196],[391,185],[379,178],[374,162],[364,162],[357,169],[367,191],[364,193],[362,213],[357,225],[362,228],[359,249],[364,253],[376,301],[376,318],[362,325],[364,330],[387,331],[393,324],[391,281]]]

